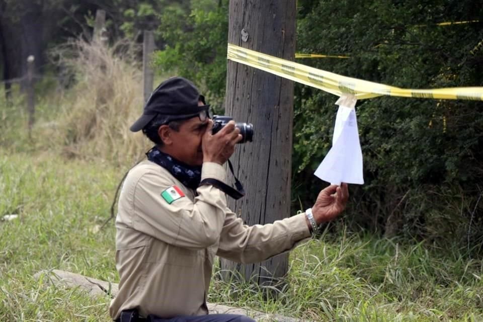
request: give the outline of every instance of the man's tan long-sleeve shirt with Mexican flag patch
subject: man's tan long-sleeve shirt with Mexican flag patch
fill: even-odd
[[[203,164],[202,180],[225,182],[225,177],[222,166]],[[181,194],[172,191],[174,186]],[[174,198],[163,197],[167,190]],[[247,226],[227,208],[222,191],[205,185],[196,192],[197,196],[150,161],[127,175],[116,218],[120,282],[109,309],[113,319],[133,308],[141,316],[207,314],[215,255],[241,263],[260,262],[310,236],[303,214]]]

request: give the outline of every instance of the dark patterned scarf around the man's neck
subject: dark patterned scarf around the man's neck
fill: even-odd
[[[196,190],[201,181],[201,166],[189,166],[153,146],[146,153],[147,159],[166,170],[186,187]]]

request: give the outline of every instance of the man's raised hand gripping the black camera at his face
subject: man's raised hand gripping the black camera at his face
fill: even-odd
[[[235,127],[234,121],[229,121],[215,135],[212,135],[213,121],[208,121],[208,127],[201,143],[203,162],[215,162],[223,165],[235,151],[235,144],[241,141],[243,136],[240,134],[240,130]]]

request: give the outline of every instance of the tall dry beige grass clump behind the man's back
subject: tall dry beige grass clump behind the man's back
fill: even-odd
[[[141,115],[142,73],[130,46],[77,41],[57,51],[75,85],[62,99],[52,144],[68,157],[131,165],[151,145],[129,126]],[[60,54],[59,54],[60,53]]]

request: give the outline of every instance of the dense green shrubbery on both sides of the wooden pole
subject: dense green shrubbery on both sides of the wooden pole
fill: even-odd
[[[297,52],[351,56],[304,59],[303,64],[403,88],[483,83],[483,52],[473,50],[483,38],[483,19],[478,19],[483,9],[475,1],[348,5],[306,0],[298,1],[298,10]],[[474,20],[479,22],[437,25]],[[167,24],[177,29],[168,31]],[[184,66],[180,74],[195,79],[219,104],[225,85],[226,26],[224,1],[211,12],[171,13],[159,29],[167,47],[158,52],[156,65],[163,70]],[[296,86],[294,209],[309,205],[323,185],[312,174],[330,148],[336,99]],[[394,97],[358,102],[366,183],[351,188],[346,220],[389,236],[480,244],[481,108],[480,102]]]

